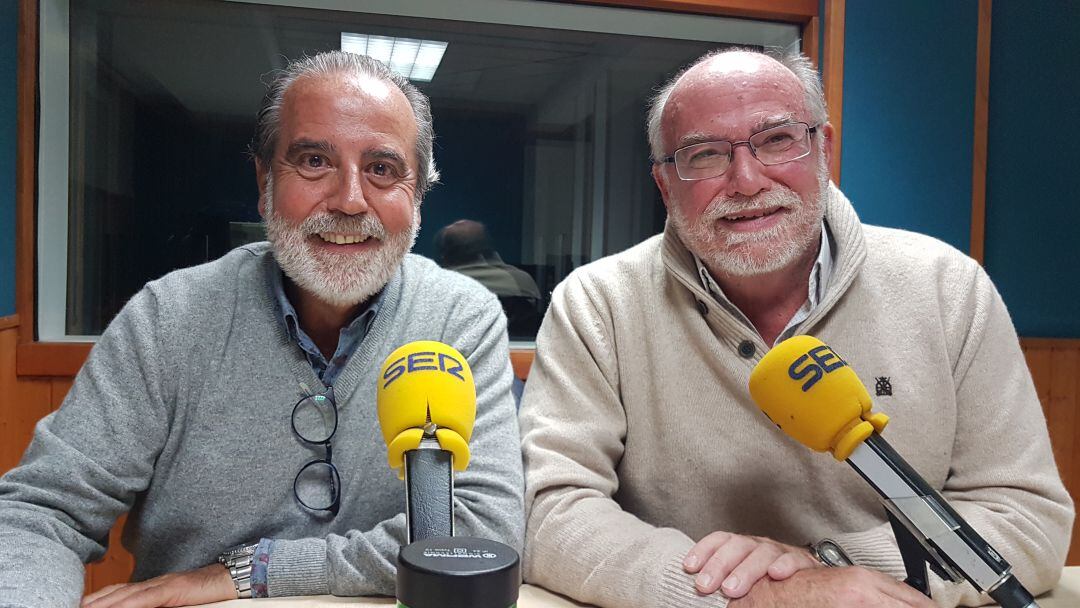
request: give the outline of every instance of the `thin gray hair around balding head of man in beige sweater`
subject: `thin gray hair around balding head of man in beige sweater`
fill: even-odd
[[[664,152],[664,144],[660,135],[660,119],[664,113],[664,106],[667,105],[667,98],[671,97],[672,91],[675,85],[678,84],[679,79],[683,78],[686,72],[690,71],[694,67],[712,59],[713,57],[724,55],[726,53],[758,53],[767,57],[771,57],[784,66],[795,78],[798,79],[799,84],[802,85],[802,94],[806,97],[806,109],[810,112],[810,120],[815,124],[824,124],[828,122],[828,109],[825,107],[825,93],[821,85],[821,76],[818,73],[816,68],[810,59],[800,53],[797,49],[766,49],[764,51],[757,49],[724,49],[719,51],[711,51],[705,53],[701,57],[694,59],[692,64],[679,70],[671,80],[665,82],[661,86],[657,94],[652,96],[649,100],[649,116],[647,120],[647,130],[649,135],[649,149],[652,153],[652,160],[659,161],[664,158],[666,153]]]

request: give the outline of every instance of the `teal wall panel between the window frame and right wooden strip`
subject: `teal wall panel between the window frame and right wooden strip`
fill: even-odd
[[[848,0],[840,186],[863,221],[969,251],[975,0]]]

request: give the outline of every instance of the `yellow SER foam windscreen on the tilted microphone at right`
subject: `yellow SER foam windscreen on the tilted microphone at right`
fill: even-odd
[[[851,366],[812,336],[767,352],[750,375],[750,394],[783,432],[837,460],[889,421],[870,413],[870,396]]]

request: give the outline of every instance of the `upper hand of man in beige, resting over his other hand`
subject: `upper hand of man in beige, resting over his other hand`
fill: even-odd
[[[731,598],[746,595],[762,577],[781,581],[818,566],[821,563],[806,549],[731,532],[706,536],[683,559],[683,569],[698,575],[693,585],[699,592],[710,594],[719,589]]]

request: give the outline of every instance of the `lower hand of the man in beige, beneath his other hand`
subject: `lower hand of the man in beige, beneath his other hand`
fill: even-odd
[[[929,597],[876,570],[813,568],[784,581],[762,579],[729,608],[936,608]]]

